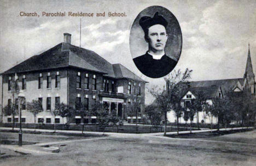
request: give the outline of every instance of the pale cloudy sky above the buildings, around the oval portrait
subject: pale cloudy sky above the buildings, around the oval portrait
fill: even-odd
[[[63,42],[79,46],[80,17],[42,17],[42,12],[103,13],[82,17],[83,48],[110,63],[121,63],[153,85],[164,79],[144,76],[133,64],[129,36],[136,16],[145,8],[160,5],[176,16],[182,30],[182,53],[174,70],[193,70],[191,81],[241,78],[250,44],[256,71],[256,1],[2,1],[0,0],[0,72]],[[20,12],[40,17],[22,17]],[[126,17],[109,17],[108,12]],[[66,14],[67,15],[67,14]],[[146,103],[153,100],[146,91]]]

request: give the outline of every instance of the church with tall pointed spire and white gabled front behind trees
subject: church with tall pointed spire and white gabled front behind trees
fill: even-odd
[[[215,97],[225,97],[225,93],[229,91],[241,92],[248,90],[255,96],[255,75],[253,73],[252,59],[250,49],[248,49],[247,62],[245,74],[242,78],[232,78],[232,79],[216,79],[208,81],[193,81],[189,82],[189,89],[187,93],[182,97],[182,105],[190,103],[191,100],[196,100],[197,94],[203,92],[203,95],[206,97],[207,102],[211,103],[211,99]],[[171,111],[167,115],[168,121],[175,122],[176,116],[174,112]],[[183,117],[179,118],[179,122],[185,123]],[[210,123],[210,119],[206,118],[204,112],[199,112],[198,115],[195,115],[193,122],[205,122]],[[188,122],[190,122],[188,120]],[[217,118],[213,118],[213,124],[216,124]]]

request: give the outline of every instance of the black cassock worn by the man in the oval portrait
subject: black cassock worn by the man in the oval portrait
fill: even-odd
[[[176,66],[177,62],[166,54],[161,59],[153,59],[148,52],[143,56],[139,56],[133,59],[133,62],[137,66],[138,70],[144,75],[151,78],[160,78],[170,73]]]

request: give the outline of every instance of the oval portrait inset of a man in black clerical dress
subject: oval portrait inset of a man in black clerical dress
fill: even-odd
[[[144,75],[160,78],[170,73],[182,51],[181,27],[171,11],[160,6],[141,11],[131,27],[130,51]]]

